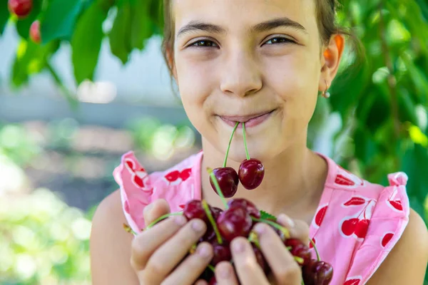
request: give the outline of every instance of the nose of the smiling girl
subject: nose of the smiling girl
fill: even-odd
[[[220,89],[226,94],[245,97],[258,92],[263,86],[260,68],[250,54],[234,53],[225,58]]]

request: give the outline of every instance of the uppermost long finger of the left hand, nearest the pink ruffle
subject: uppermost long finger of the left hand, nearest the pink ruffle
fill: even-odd
[[[173,217],[134,237],[131,244],[131,265],[136,271],[146,267],[149,257],[187,222],[183,216]]]

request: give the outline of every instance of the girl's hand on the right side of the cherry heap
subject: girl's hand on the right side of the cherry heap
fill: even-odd
[[[309,242],[309,227],[305,222],[293,222],[284,214],[280,214],[277,222],[290,229],[292,237],[302,240],[305,244]],[[263,223],[257,224],[254,229],[258,232],[263,255],[270,269],[272,269],[272,283],[266,278],[263,269],[258,265],[248,240],[236,238],[230,244],[236,274],[229,262],[221,262],[215,267],[215,277],[218,285],[302,284],[300,266],[275,231]]]

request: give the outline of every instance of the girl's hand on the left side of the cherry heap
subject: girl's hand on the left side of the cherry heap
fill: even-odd
[[[144,209],[146,224],[170,212],[165,200],[156,200]],[[192,285],[213,257],[208,243],[199,244],[195,254],[188,254],[206,231],[200,219],[187,222],[175,216],[138,234],[132,243],[131,265],[142,285]]]

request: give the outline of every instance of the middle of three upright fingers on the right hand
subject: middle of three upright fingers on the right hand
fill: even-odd
[[[273,230],[272,230],[273,232]],[[277,237],[277,239],[280,239]],[[263,269],[255,259],[253,248],[247,239],[237,237],[230,244],[233,262],[238,273],[239,280],[245,285],[268,284]],[[282,246],[284,247],[284,246]],[[285,248],[285,247],[284,247]]]

